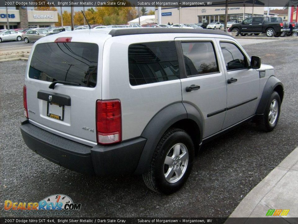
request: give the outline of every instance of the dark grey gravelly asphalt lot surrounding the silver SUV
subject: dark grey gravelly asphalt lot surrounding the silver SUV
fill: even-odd
[[[27,61],[0,63],[0,216],[14,217],[4,200],[38,202],[65,194],[82,204],[71,217],[228,217],[298,145],[296,46],[294,39],[244,45],[249,55],[273,65],[284,84],[279,123],[271,133],[246,123],[203,145],[186,185],[169,196],[149,191],[139,176],[85,176],[32,152],[20,133]]]

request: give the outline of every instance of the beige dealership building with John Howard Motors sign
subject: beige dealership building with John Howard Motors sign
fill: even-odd
[[[255,7],[252,7],[252,1],[245,2],[245,6],[240,4],[229,4],[228,21],[240,22],[247,17],[264,16],[264,3],[255,0]],[[161,24],[183,23],[193,24],[199,22],[222,22],[224,23],[225,7],[208,6],[208,7],[162,7],[161,8]],[[157,20],[158,13],[155,10],[155,18]],[[160,22],[159,22],[160,23]]]

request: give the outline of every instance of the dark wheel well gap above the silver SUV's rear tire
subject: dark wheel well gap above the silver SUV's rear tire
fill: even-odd
[[[192,142],[195,145],[195,149],[199,148],[199,145],[201,142],[200,128],[194,120],[191,120],[191,119],[179,120],[176,123],[174,123],[170,128],[180,128],[186,131],[192,138]]]

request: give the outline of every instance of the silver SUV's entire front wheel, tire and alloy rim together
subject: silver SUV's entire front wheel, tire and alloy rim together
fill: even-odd
[[[276,91],[273,91],[266,105],[265,112],[259,120],[261,131],[271,132],[275,128],[280,114],[280,106],[280,97]]]

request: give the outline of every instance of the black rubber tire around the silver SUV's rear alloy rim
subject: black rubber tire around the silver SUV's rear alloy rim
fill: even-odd
[[[183,150],[185,152],[188,152],[188,162],[187,163],[182,162],[182,160],[180,160],[179,157],[177,156],[173,159],[173,163],[171,161],[171,164],[174,165],[174,166],[171,165],[172,167],[171,168],[170,166],[165,164],[165,159],[166,157],[175,156],[174,146],[177,144],[181,144],[179,145],[179,148],[181,147],[179,149],[179,155],[180,155],[180,152],[183,152]],[[173,152],[172,155],[170,155],[171,152]],[[146,186],[152,191],[155,191],[160,194],[172,194],[178,191],[186,182],[192,170],[193,160],[194,160],[194,145],[190,136],[182,129],[178,129],[178,128],[169,129],[168,131],[165,132],[165,134],[161,137],[159,143],[157,144],[151,160],[149,171],[143,174],[143,180]],[[186,168],[185,166],[183,166],[183,163],[184,165],[186,164]],[[183,171],[181,173],[181,176],[178,178],[178,180],[172,180],[174,182],[170,183],[169,181],[171,179],[176,178],[177,173],[173,171],[174,173],[172,173],[169,176],[170,180],[166,179],[165,173],[169,172],[170,169],[171,170],[175,169],[175,166],[180,167],[179,168],[180,171],[181,170]]]

